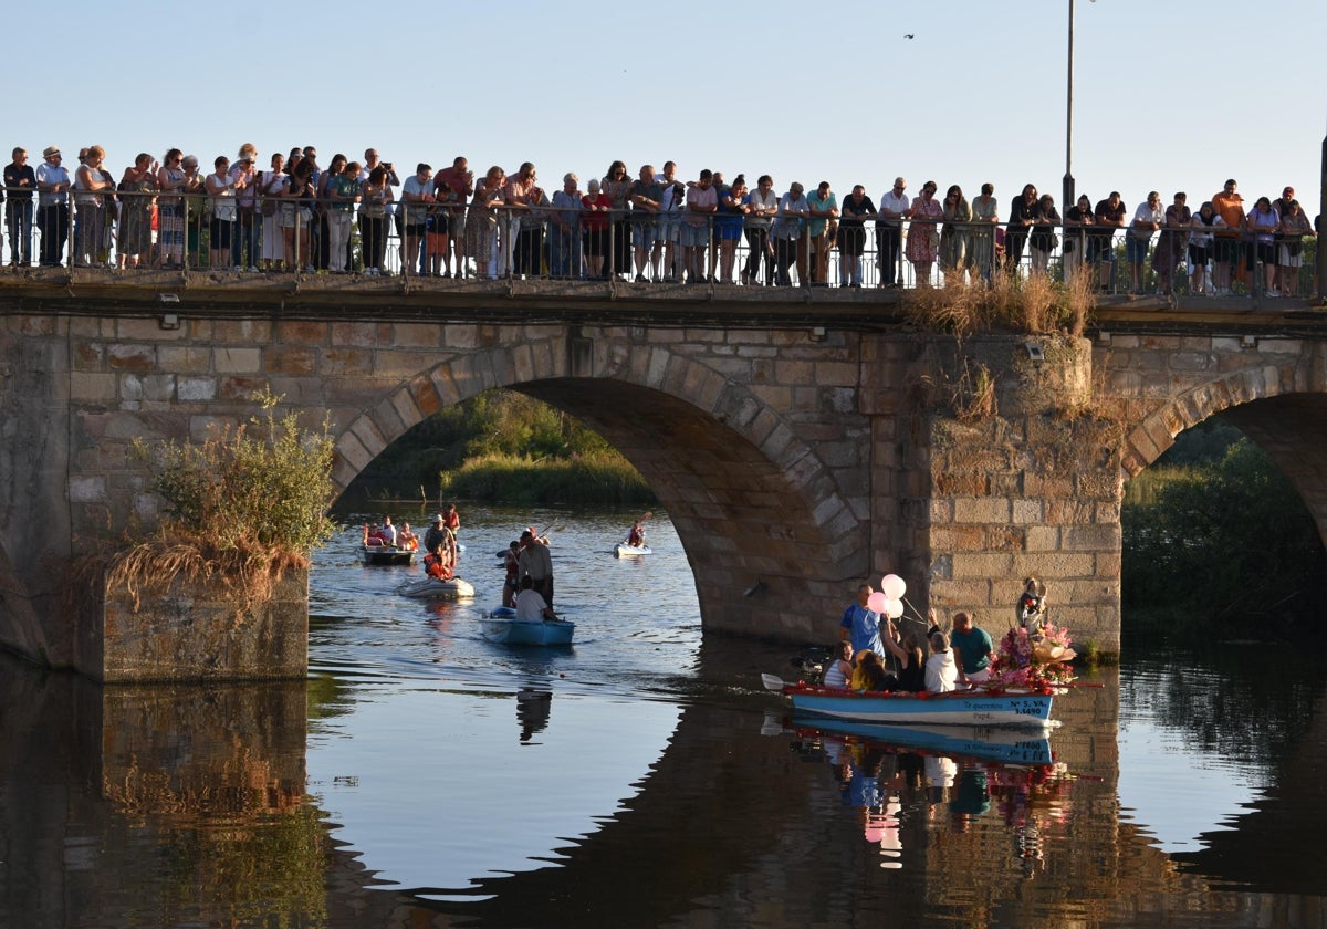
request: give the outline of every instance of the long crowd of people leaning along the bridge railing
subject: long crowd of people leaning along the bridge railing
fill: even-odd
[[[614,161],[584,191],[567,173],[549,195],[532,162],[476,177],[458,155],[402,178],[376,149],[362,161],[336,154],[324,169],[305,146],[272,154],[263,169],[245,143],[234,162],[214,158],[211,173],[170,149],[161,161],[139,154],[118,180],[101,146],[82,149],[72,173],[58,146],[41,157],[33,167],[17,147],[4,171],[19,267],[33,264],[36,240],[42,267],[64,264],[68,246],[76,267],[900,287],[909,267],[917,285],[962,283],[1002,268],[1047,273],[1058,253],[1066,280],[1089,272],[1111,288],[1119,234],[1133,292],[1145,287],[1151,256],[1165,293],[1182,268],[1196,293],[1242,283],[1295,296],[1302,242],[1318,226],[1292,187],[1246,208],[1233,179],[1197,211],[1184,192],[1162,208],[1152,191],[1132,214],[1112,191],[1095,203],[1080,195],[1062,215],[1054,196],[1026,184],[1002,218],[990,183],[971,200],[958,184],[937,199],[934,180],[909,196],[900,177],[877,204],[863,184],[840,202],[827,180],[809,194],[795,180],[780,194],[767,174],[755,184],[709,169],[683,178],[671,161],[634,177]]]

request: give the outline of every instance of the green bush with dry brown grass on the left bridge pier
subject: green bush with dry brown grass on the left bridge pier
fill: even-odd
[[[218,584],[240,603],[238,616],[272,597],[287,571],[307,568],[333,531],[333,446],[300,429],[293,413],[276,419],[276,397],[253,397],[265,419],[212,429],[202,445],[137,443],[153,467],[159,526],[110,561],[107,580],[137,608],[142,593],[165,593],[176,579]]]

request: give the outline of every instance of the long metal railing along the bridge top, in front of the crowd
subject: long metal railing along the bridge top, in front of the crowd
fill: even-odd
[[[1141,252],[1135,247],[1135,256],[1144,255],[1135,279],[1129,230],[1063,223],[1011,234],[982,222],[760,222],[740,214],[618,215],[552,203],[515,210],[397,200],[338,210],[328,200],[285,196],[255,196],[248,206],[203,190],[74,191],[56,204],[5,194],[0,256],[8,265],[827,288],[1091,273],[1107,293],[1296,296],[1314,289],[1312,267],[1296,260],[1302,236],[1255,240],[1225,227],[1153,232]]]

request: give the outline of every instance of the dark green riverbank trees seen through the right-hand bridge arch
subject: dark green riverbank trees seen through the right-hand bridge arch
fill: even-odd
[[[1265,638],[1322,612],[1318,527],[1286,474],[1218,419],[1125,484],[1123,607],[1140,632]]]

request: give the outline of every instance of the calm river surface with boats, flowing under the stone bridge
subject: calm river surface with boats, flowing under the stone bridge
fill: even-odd
[[[308,682],[0,661],[0,926],[1327,926],[1316,664],[1127,638],[1047,764],[845,741],[762,689],[794,649],[702,641],[666,516],[613,557],[633,515],[463,510],[462,603],[398,596],[422,569],[361,567],[346,515]],[[572,648],[479,634],[525,524]]]

